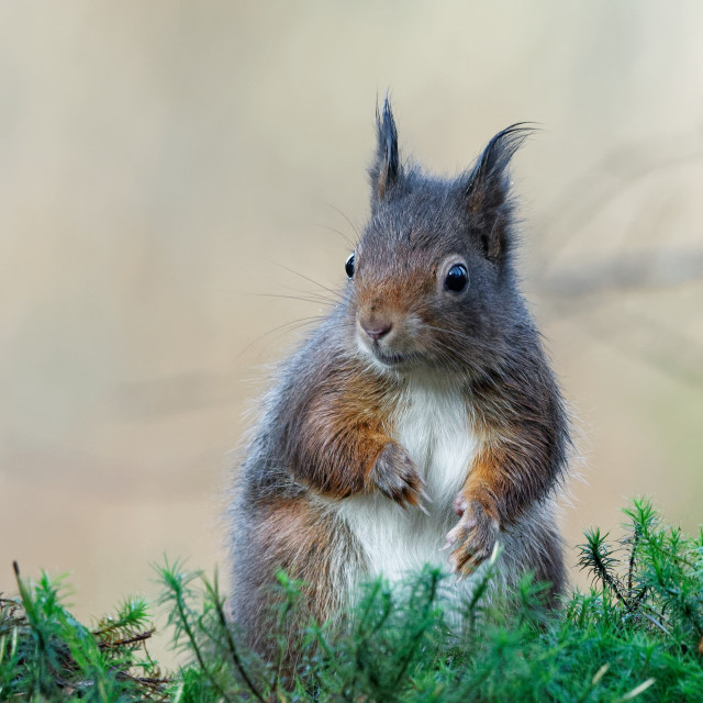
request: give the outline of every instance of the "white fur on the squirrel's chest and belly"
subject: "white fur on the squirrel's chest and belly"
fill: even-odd
[[[397,580],[425,563],[446,566],[440,550],[456,523],[451,502],[478,449],[466,395],[425,379],[409,382],[391,417],[392,438],[411,456],[432,503],[424,515],[402,509],[380,493],[339,503],[339,512],[365,553],[368,573]]]

